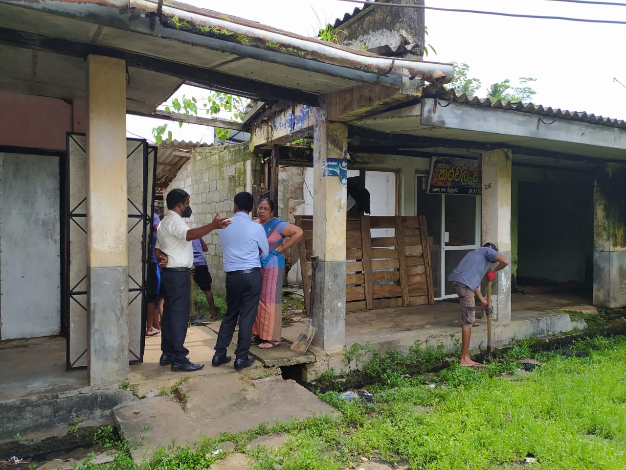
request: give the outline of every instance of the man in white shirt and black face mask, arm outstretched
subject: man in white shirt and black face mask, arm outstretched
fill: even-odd
[[[215,229],[230,224],[220,219],[218,212],[213,221],[202,227],[190,229],[182,217],[191,217],[189,194],[182,189],[168,192],[169,212],[156,230],[155,255],[160,259],[163,313],[161,318],[161,365],[170,365],[172,372],[193,372],[204,364],[195,364],[187,358],[185,348],[187,325],[191,308],[191,279],[189,270],[193,265],[192,240],[202,238]]]

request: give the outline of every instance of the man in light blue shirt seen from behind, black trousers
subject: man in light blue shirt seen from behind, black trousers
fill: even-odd
[[[254,362],[254,357],[249,357],[248,352],[263,286],[259,254],[267,256],[269,246],[263,227],[250,220],[254,204],[252,194],[239,192],[233,202],[235,215],[230,219],[232,224],[220,230],[228,310],[217,335],[212,365],[218,367],[230,362],[226,348],[230,345],[239,318],[234,366],[235,370],[241,370]]]

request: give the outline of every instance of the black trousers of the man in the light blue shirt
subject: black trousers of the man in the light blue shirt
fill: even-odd
[[[261,271],[257,269],[252,273],[231,274],[226,273],[226,303],[228,310],[215,343],[215,355],[226,355],[226,348],[230,345],[239,318],[239,337],[237,338],[237,359],[247,359],[252,342],[252,325],[257,318],[259,298],[263,279]]]

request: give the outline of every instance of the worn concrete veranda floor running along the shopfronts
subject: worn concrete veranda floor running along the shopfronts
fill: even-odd
[[[573,326],[583,326],[569,321],[560,310],[593,310],[591,298],[576,293],[548,293],[528,296],[514,294],[511,322],[494,322],[494,345],[521,338],[533,331],[539,335],[555,331],[567,331]],[[450,335],[458,336],[461,321],[458,301],[438,301],[423,305],[383,310],[357,311],[346,315],[346,345],[372,343],[379,350],[407,348],[416,340],[430,339],[434,344],[442,341],[449,345]],[[293,318],[292,325],[283,328],[285,340],[294,341],[304,328],[304,314]],[[477,319],[480,326],[473,329],[471,348],[477,349],[486,342],[486,320]],[[217,338],[219,322],[193,326],[188,330],[185,345],[194,362],[204,362],[205,367],[197,375],[217,373],[221,368],[210,367],[213,346]],[[564,329],[567,328],[567,329]],[[236,338],[236,334],[235,334]],[[77,390],[88,385],[86,370],[66,371],[66,340],[61,337],[28,338],[0,341],[0,401],[12,400],[51,392]],[[268,352],[252,347],[251,353],[267,357],[287,357],[289,344]],[[294,353],[295,354],[295,353]],[[142,396],[180,380],[182,375],[158,365],[160,335],[146,338],[144,362],[130,366],[128,382],[136,385]],[[306,361],[305,361],[306,362]],[[222,367],[232,367],[226,365]],[[255,367],[262,367],[257,362]]]

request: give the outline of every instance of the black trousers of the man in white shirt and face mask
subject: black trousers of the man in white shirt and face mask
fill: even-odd
[[[161,316],[161,350],[173,356],[175,362],[189,362],[189,350],[185,348],[189,310],[191,279],[189,271],[161,271],[163,313]]]

